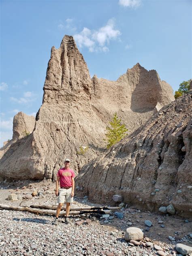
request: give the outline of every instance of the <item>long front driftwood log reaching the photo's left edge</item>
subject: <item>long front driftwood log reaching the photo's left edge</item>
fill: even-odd
[[[97,208],[97,207],[95,207]],[[99,207],[98,207],[99,208]],[[55,215],[56,211],[55,210],[41,210],[41,209],[33,209],[32,207],[29,206],[9,206],[9,205],[0,205],[0,209],[5,209],[5,210],[13,210],[13,211],[29,211],[31,213],[35,214],[50,214],[50,215]],[[99,214],[107,214],[111,213],[111,210],[104,210],[104,209],[92,209],[92,210],[84,210],[84,211],[70,211],[70,215],[81,215],[84,213],[99,213]],[[60,213],[60,216],[64,216],[66,214],[65,211],[62,211]]]

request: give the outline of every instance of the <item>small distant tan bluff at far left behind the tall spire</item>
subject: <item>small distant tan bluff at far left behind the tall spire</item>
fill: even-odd
[[[0,158],[5,154],[9,147],[18,139],[25,137],[32,133],[35,127],[35,117],[26,115],[23,112],[17,113],[13,118],[13,138],[10,141],[5,141],[2,148],[0,148]]]

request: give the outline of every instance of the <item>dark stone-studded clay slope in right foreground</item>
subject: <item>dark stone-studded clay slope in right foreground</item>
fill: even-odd
[[[173,204],[191,215],[191,101],[192,91],[85,165],[76,179],[79,194],[108,204],[119,194],[124,203],[150,211]]]

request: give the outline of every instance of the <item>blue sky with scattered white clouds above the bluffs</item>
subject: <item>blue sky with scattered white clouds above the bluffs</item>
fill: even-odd
[[[0,147],[19,111],[36,115],[51,47],[75,38],[91,77],[137,62],[177,90],[192,78],[191,0],[0,0]]]

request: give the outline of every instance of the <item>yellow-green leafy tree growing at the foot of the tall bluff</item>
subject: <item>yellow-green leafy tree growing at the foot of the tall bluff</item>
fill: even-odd
[[[121,119],[117,117],[117,113],[114,114],[113,119],[109,124],[111,127],[106,127],[107,132],[105,133],[105,136],[107,139],[104,139],[104,141],[107,141],[108,143],[107,149],[127,135],[127,128],[125,124],[121,124]]]

